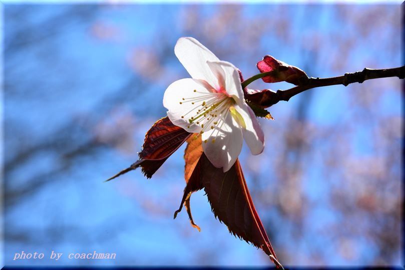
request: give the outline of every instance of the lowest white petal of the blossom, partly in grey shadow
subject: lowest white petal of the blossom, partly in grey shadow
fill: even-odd
[[[208,160],[217,168],[228,171],[235,163],[242,149],[242,132],[238,123],[226,112],[225,117],[217,117],[213,129],[201,134],[202,147]],[[214,140],[214,141],[213,141]]]

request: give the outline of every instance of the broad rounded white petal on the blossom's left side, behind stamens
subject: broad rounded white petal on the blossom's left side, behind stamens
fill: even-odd
[[[163,106],[168,109],[167,116],[173,124],[188,132],[198,133],[202,128],[192,119],[200,114],[198,110],[202,108],[201,104],[204,101],[216,98],[217,94],[205,88],[202,81],[184,78],[167,87],[163,96]]]

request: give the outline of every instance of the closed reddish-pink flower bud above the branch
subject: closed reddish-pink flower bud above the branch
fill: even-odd
[[[287,81],[299,85],[308,78],[305,72],[298,67],[286,64],[270,55],[266,55],[263,60],[258,61],[257,68],[261,73],[273,72],[271,75],[262,78],[264,82]]]

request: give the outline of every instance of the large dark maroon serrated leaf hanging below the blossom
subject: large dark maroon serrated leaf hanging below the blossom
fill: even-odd
[[[236,160],[230,170],[223,172],[202,154],[187,182],[175,217],[191,193],[202,188],[208,196],[215,217],[228,226],[229,232],[260,247],[277,267],[282,267],[254,207],[239,160]]]

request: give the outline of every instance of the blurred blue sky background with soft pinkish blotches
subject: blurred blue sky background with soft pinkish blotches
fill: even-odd
[[[173,51],[180,36],[245,78],[265,54],[327,77],[403,64],[402,16],[399,4],[6,4],[5,263],[271,266],[203,191],[191,198],[201,232],[184,209],[173,220],[185,145],[152,179],[103,180],[137,160],[166,115],[166,87],[189,76]],[[240,160],[283,264],[403,265],[401,89],[398,78],[316,88],[260,119],[265,150],[244,145]],[[45,258],[13,260],[21,250]],[[67,257],[94,250],[117,258]]]

